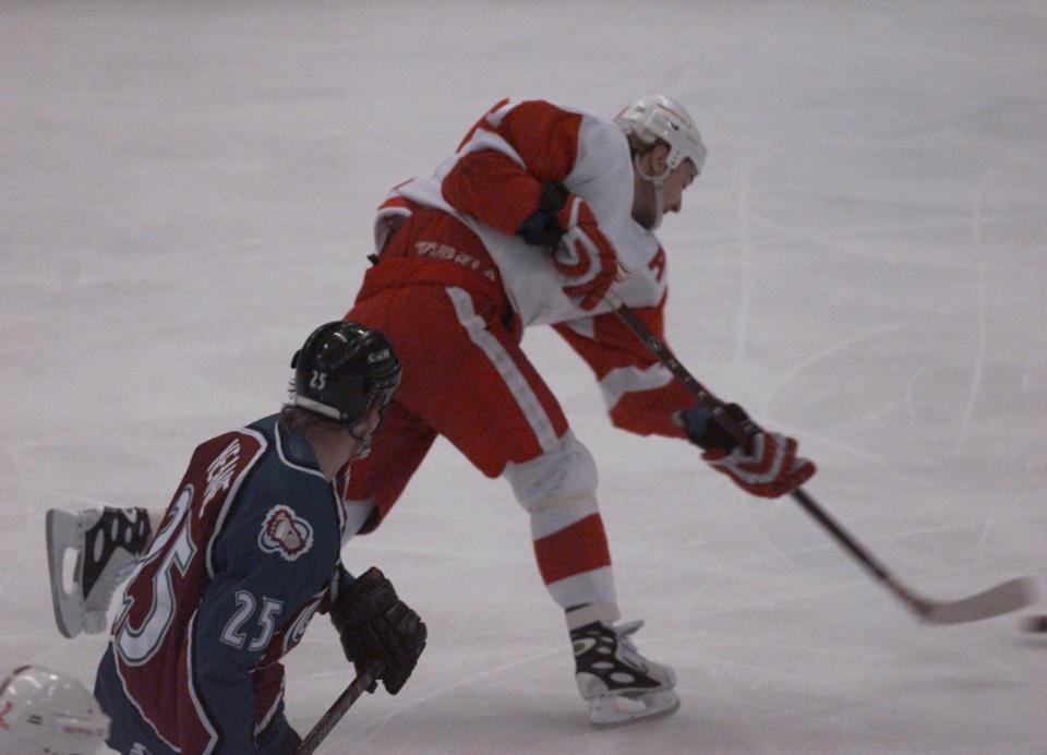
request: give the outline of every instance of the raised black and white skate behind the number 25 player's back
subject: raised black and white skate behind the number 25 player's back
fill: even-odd
[[[58,631],[75,637],[106,628],[109,601],[145,552],[152,536],[144,508],[86,508],[80,514],[47,512],[47,566]],[[76,553],[73,589],[65,590],[68,551]]]

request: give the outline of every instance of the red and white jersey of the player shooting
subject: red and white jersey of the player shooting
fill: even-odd
[[[369,271],[360,296],[407,284],[442,283],[480,295],[495,287],[525,327],[553,325],[589,363],[617,427],[683,438],[672,417],[693,406],[694,397],[609,305],[585,311],[564,293],[568,281],[551,263],[549,250],[516,236],[539,208],[547,181],[562,182],[589,204],[624,274],[614,290],[664,339],[666,259],[658,237],[633,219],[634,168],[625,135],[604,118],[544,100],[502,100],[432,178],[401,183],[378,208],[374,238],[380,255],[419,207],[456,218],[482,250],[466,250],[467,242],[459,243],[454,233],[437,241],[412,239],[413,249],[388,244],[397,247],[396,255],[414,259]]]

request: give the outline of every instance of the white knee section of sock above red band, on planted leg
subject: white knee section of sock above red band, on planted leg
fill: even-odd
[[[570,430],[541,456],[521,464],[510,462],[502,474],[527,511],[546,499],[591,498],[597,491],[597,463]]]

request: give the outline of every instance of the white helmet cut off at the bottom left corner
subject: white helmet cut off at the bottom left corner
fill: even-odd
[[[109,718],[83,684],[23,666],[0,683],[0,753],[91,755],[109,736]]]

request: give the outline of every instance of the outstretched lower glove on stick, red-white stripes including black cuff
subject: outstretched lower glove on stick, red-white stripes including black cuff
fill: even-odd
[[[774,499],[814,477],[817,467],[796,456],[795,439],[761,430],[737,404],[725,404],[718,414],[697,406],[681,411],[679,418],[690,442],[705,451],[701,458],[746,492]]]

